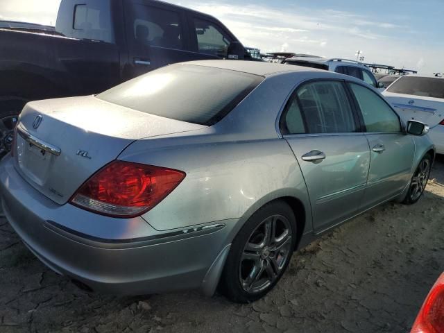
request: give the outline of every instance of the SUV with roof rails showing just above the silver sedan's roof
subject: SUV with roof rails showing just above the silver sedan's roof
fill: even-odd
[[[382,87],[382,85],[378,85],[375,76],[366,66],[364,66],[361,62],[353,60],[339,58],[327,59],[318,56],[303,55],[285,59],[282,63],[325,69],[326,71],[335,71],[336,73],[359,78],[375,88]]]

